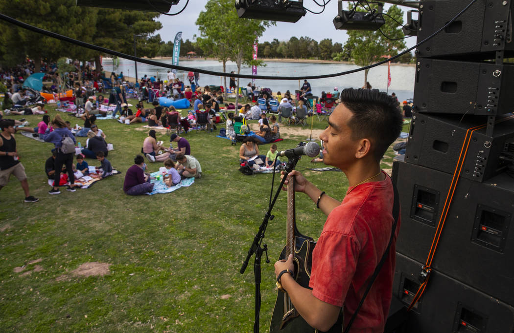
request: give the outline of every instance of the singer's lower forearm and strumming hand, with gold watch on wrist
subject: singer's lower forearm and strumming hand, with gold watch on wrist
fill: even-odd
[[[294,269],[293,256],[287,260],[279,260],[275,263],[275,275],[278,277],[284,269]],[[293,306],[300,316],[312,327],[321,331],[327,331],[337,321],[341,308],[323,302],[313,296],[313,291],[299,285],[290,274],[283,274],[280,278],[282,287],[289,295]]]

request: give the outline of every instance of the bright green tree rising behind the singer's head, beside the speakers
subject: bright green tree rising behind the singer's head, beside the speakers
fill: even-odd
[[[371,7],[377,8],[376,5],[371,5]],[[403,24],[403,12],[398,6],[391,6],[387,14]],[[348,31],[348,40],[344,48],[345,50],[351,50],[351,57],[356,65],[369,66],[383,60],[384,56],[395,55],[405,48],[405,40],[398,39],[403,37],[401,27],[389,16],[384,15],[384,18],[386,24],[380,28],[381,31]],[[364,85],[368,81],[368,72],[369,69],[364,70]]]

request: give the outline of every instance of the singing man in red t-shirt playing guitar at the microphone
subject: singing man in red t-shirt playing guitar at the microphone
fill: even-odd
[[[369,279],[386,252],[394,223],[393,186],[380,170],[380,159],[398,137],[402,116],[396,101],[378,90],[345,89],[341,103],[320,135],[323,162],[340,168],[348,179],[343,201],[334,199],[300,172],[295,191],[307,194],[327,215],[312,256],[309,287],[290,274],[279,282],[298,313],[312,327],[330,329],[341,310],[346,326],[355,312]],[[287,184],[287,182],[286,182]],[[360,308],[351,332],[383,332],[392,295],[395,236],[373,286]],[[277,277],[293,270],[292,256],[275,263]]]

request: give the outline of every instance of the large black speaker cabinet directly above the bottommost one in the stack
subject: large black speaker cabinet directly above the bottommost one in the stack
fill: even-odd
[[[401,227],[396,251],[425,263],[452,175],[394,161]],[[479,183],[460,178],[432,267],[514,305],[514,178]]]

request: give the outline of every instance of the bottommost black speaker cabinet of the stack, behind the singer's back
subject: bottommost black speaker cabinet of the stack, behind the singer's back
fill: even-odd
[[[396,254],[393,297],[409,305],[419,287],[421,262]],[[423,297],[409,312],[406,332],[511,333],[514,308],[433,270]]]

